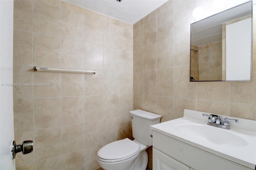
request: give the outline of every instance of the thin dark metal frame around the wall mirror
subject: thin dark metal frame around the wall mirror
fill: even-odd
[[[232,7],[232,8],[229,8],[229,9],[227,9],[227,10],[224,10],[224,11],[221,11],[221,12],[218,12],[218,13],[216,13],[216,14],[214,14],[214,15],[211,15],[211,16],[208,16],[208,17],[206,17],[206,18],[203,18],[202,20],[198,20],[198,21],[196,21],[196,22],[194,22],[194,23],[192,23],[192,24],[190,24],[190,82],[202,82],[202,81],[200,81],[200,80],[198,80],[198,81],[196,81],[196,80],[194,80],[193,79],[193,77],[191,76],[191,70],[192,70],[192,59],[191,59],[191,57],[192,57],[192,25],[193,24],[195,24],[195,23],[198,23],[198,22],[201,22],[201,21],[203,21],[203,20],[206,20],[206,19],[208,19],[208,18],[211,18],[211,17],[213,17],[213,16],[216,16],[216,15],[219,15],[219,14],[221,14],[221,13],[224,13],[224,12],[226,12],[226,11],[228,11],[228,10],[231,10],[231,9],[233,9],[233,8],[236,8],[236,7],[239,7],[239,6],[242,6],[242,5],[244,5],[244,4],[247,4],[247,3],[250,3],[251,4],[251,56],[250,56],[250,61],[251,61],[251,63],[250,63],[250,79],[248,79],[248,80],[204,80],[204,81],[252,81],[252,58],[253,58],[253,0],[249,0],[249,1],[247,1],[247,2],[244,2],[244,3],[242,3],[242,4],[239,4],[239,5],[237,5],[237,6],[234,6],[234,7]]]

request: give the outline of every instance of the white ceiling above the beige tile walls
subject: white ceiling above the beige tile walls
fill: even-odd
[[[168,0],[63,0],[128,24],[135,24]]]

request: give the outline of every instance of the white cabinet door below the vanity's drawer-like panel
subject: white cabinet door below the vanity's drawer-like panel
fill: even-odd
[[[153,148],[153,170],[190,170],[190,168]]]

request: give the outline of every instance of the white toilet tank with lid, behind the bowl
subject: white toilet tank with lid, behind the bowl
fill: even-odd
[[[132,136],[139,142],[151,146],[152,129],[150,126],[160,123],[162,116],[142,110],[130,111],[130,113],[132,115]]]

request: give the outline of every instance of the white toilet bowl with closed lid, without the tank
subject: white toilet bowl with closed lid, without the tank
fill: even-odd
[[[136,139],[125,138],[103,146],[97,160],[104,170],[145,170],[148,147]]]

